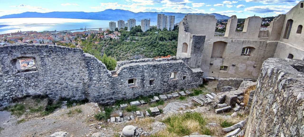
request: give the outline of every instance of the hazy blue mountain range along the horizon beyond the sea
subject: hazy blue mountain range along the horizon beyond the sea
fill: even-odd
[[[125,20],[134,18],[136,21],[141,19],[150,19],[151,22],[157,21],[157,14],[175,16],[175,23],[180,22],[185,15],[193,13],[173,13],[173,12],[131,12],[122,9],[106,9],[102,12],[23,12],[20,14],[11,14],[1,16],[0,19],[8,18],[67,18],[67,19],[98,19],[98,20]],[[216,19],[229,19],[230,17],[217,13],[203,14],[196,13],[195,15],[214,15]]]

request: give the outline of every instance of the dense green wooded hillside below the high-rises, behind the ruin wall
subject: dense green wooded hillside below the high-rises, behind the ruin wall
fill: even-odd
[[[178,27],[173,31],[151,28],[142,32],[140,26],[135,26],[131,31],[120,30],[119,39],[103,39],[100,36],[105,34],[91,34],[76,37],[85,53],[94,55],[101,60],[109,70],[113,70],[116,61],[133,60],[140,58],[154,58],[157,56],[175,56],[177,50]],[[112,32],[108,32],[112,33]],[[95,43],[99,42],[99,43]],[[75,47],[73,44],[59,45]],[[116,60],[116,61],[115,61]],[[106,62],[107,61],[107,62]],[[108,64],[107,64],[108,63]]]

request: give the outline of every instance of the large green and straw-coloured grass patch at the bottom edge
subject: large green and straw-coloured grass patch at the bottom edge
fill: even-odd
[[[162,121],[167,125],[165,132],[175,134],[178,136],[189,135],[193,132],[199,132],[202,135],[211,135],[208,128],[206,128],[206,119],[200,113],[185,113],[176,114]],[[155,134],[154,137],[162,137],[162,134]]]

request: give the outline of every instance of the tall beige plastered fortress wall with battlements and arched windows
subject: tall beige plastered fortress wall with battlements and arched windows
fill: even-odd
[[[297,32],[298,26],[304,25],[303,2],[286,15],[277,16],[264,31],[260,31],[261,17],[252,16],[245,20],[243,31],[237,32],[237,17],[232,16],[223,37],[214,36],[215,16],[186,15],[179,25],[177,57],[190,58],[190,67],[194,66],[192,60],[201,62],[199,66],[205,78],[253,80],[259,77],[262,63],[267,58],[289,58],[291,54],[292,58],[303,60],[304,31]],[[290,19],[293,20],[292,25],[289,25]],[[289,38],[284,37],[287,33]],[[203,48],[200,51],[196,48],[199,54],[193,55],[193,41],[199,42],[196,37],[203,36],[206,37]]]

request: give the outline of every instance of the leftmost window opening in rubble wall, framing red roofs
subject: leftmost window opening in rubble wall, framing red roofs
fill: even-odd
[[[36,71],[37,63],[35,58],[22,57],[16,60],[16,68],[19,72]]]

